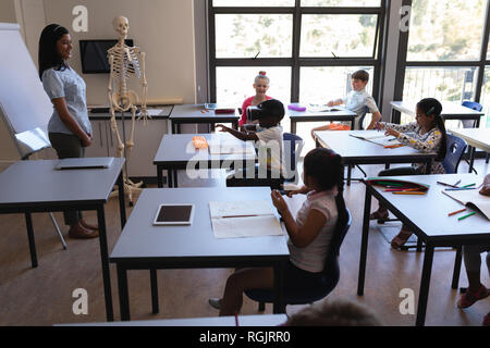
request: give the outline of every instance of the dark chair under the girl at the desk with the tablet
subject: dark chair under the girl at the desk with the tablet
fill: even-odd
[[[339,200],[336,202],[336,206],[341,207],[341,204],[339,204]],[[313,303],[315,301],[321,300],[335,288],[340,279],[338,257],[340,253],[342,241],[344,240],[344,237],[347,234],[348,228],[351,227],[351,212],[347,208],[345,208],[343,212],[339,213],[339,220],[336,222],[333,237],[330,243],[329,251],[324,261],[321,286],[319,286],[318,288],[285,288],[283,297],[284,306]],[[266,309],[265,303],[272,303],[274,300],[273,289],[249,289],[245,290],[245,295],[254,301],[259,302],[259,311],[264,311]]]

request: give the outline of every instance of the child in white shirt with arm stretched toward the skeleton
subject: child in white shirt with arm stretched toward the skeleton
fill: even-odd
[[[235,138],[247,141],[254,140],[258,145],[258,162],[259,166],[255,169],[252,179],[270,179],[271,188],[280,189],[284,182],[283,173],[285,173],[283,162],[283,141],[281,120],[284,117],[284,105],[275,99],[261,102],[259,124],[256,133],[245,133],[235,130],[218,124],[221,132],[228,132]],[[241,186],[247,176],[246,170],[235,172],[233,176],[226,179],[226,186]],[[253,183],[250,182],[250,185]]]

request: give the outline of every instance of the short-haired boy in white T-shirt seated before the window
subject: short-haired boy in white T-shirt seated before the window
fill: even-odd
[[[372,120],[367,129],[375,128],[375,124],[381,120],[381,113],[376,105],[375,99],[366,91],[366,86],[369,82],[369,73],[364,70],[356,71],[351,78],[352,90],[348,92],[346,98],[341,98],[336,100],[331,100],[328,102],[328,107],[335,107],[340,104],[345,104],[345,109],[351,110],[357,114],[355,121],[355,129],[360,129],[360,117],[366,111],[366,107],[369,112],[372,113]],[[314,132],[328,130],[329,126],[321,126],[311,129],[311,137],[315,139]]]

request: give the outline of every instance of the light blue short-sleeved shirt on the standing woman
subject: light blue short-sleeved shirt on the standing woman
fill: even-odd
[[[42,72],[42,86],[49,99],[64,98],[70,114],[79,124],[82,129],[91,134],[91,124],[88,120],[87,101],[84,79],[71,67],[63,71],[48,69]],[[48,132],[73,134],[61,121],[58,111],[53,108],[48,123]]]

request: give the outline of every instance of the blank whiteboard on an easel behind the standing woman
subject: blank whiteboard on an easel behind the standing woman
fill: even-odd
[[[0,109],[14,134],[46,128],[53,111],[20,29],[0,23]]]

